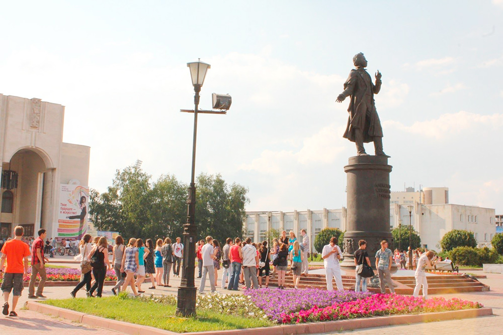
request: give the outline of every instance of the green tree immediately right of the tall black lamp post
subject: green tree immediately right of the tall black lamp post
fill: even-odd
[[[248,189],[233,183],[230,187],[220,174],[201,173],[196,183],[196,225],[200,238],[242,237],[244,206],[249,202]]]

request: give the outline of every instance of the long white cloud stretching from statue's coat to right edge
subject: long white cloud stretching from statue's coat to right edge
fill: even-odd
[[[467,130],[479,131],[479,126],[483,127],[482,131],[500,129],[503,127],[503,114],[480,115],[459,111],[458,113],[443,114],[435,120],[414,122],[411,126],[405,126],[397,121],[383,122],[384,128],[395,128],[406,133],[437,140],[465,133]]]

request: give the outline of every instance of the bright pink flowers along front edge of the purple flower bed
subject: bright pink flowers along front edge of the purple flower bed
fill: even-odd
[[[478,302],[440,297],[424,299],[396,294],[373,294],[361,300],[337,302],[327,307],[313,306],[293,313],[282,313],[281,323],[342,320],[381,315],[442,312],[483,307]]]

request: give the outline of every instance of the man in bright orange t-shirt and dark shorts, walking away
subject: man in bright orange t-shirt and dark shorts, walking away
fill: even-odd
[[[2,259],[0,260],[0,278],[4,277],[2,282],[2,292],[4,292],[4,315],[9,314],[9,295],[13,291],[12,310],[9,316],[18,316],[15,312],[18,299],[23,291],[23,278],[28,276],[28,256],[30,248],[21,241],[25,230],[21,226],[14,228],[16,238],[7,241],[2,247]],[[7,259],[7,268],[4,271],[5,260]],[[4,275],[5,273],[5,275]]]

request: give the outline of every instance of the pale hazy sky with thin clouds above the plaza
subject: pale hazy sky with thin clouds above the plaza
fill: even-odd
[[[249,188],[246,210],[346,206],[336,103],[363,52],[392,191],[449,187],[451,203],[503,212],[503,0],[87,1],[0,4],[0,93],[65,106],[63,141],[91,147],[101,192],[139,159],[190,182],[194,91],[211,64],[227,115],[198,118],[196,175]],[[373,153],[372,143],[366,144]]]

